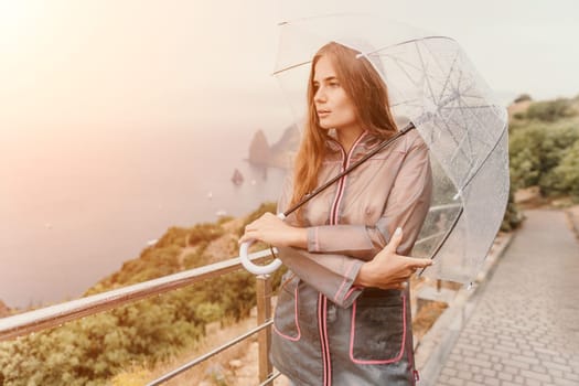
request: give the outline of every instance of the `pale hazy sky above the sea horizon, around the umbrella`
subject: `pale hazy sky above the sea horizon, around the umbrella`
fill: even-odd
[[[1,138],[282,128],[277,23],[352,11],[453,37],[505,103],[579,94],[572,0],[0,0]]]

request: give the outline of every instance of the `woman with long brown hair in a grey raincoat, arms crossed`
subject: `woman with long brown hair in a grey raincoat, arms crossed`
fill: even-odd
[[[329,43],[313,57],[304,137],[280,211],[398,131],[386,86],[358,54]],[[266,214],[246,227],[240,243],[277,246],[289,268],[271,360],[293,384],[415,383],[406,283],[431,261],[396,251],[410,253],[431,191],[428,148],[410,130],[285,222]]]

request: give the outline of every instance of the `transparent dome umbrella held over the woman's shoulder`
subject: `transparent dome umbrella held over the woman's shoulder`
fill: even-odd
[[[333,41],[373,63],[401,135],[416,129],[430,148],[435,195],[411,255],[438,261],[425,276],[472,281],[507,203],[507,115],[459,44],[367,14],[300,19],[280,30],[275,75],[296,117],[304,116],[310,61],[321,46]]]

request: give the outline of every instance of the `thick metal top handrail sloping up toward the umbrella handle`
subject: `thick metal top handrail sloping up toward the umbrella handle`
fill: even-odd
[[[269,249],[249,255],[253,261],[271,256]],[[0,342],[17,336],[39,332],[65,322],[89,317],[120,305],[180,289],[200,281],[240,269],[239,257],[168,275],[137,285],[96,293],[86,298],[45,307],[0,319]]]

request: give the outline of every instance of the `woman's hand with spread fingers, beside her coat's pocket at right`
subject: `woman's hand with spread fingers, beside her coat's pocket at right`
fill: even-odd
[[[397,228],[388,245],[371,261],[364,262],[354,285],[382,289],[405,289],[406,281],[417,269],[432,265],[431,259],[420,259],[396,254],[403,240],[403,229]]]

